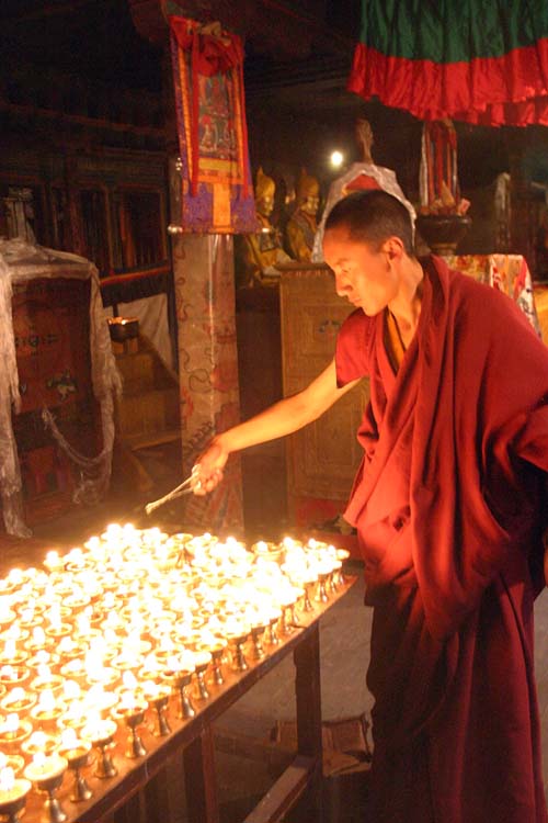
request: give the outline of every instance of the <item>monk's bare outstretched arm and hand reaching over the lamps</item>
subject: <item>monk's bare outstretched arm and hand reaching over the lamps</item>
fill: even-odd
[[[335,361],[332,360],[301,392],[285,397],[249,420],[217,435],[197,460],[199,473],[193,483],[194,493],[207,494],[215,488],[222,477],[222,469],[231,452],[298,431],[318,419],[357,382],[339,388]]]

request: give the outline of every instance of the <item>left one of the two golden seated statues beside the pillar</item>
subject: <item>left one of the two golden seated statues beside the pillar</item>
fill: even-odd
[[[276,266],[292,261],[283,249],[279,233],[270,222],[275,191],[274,180],[260,168],[255,181],[255,206],[260,230],[258,234],[241,237],[237,261],[237,279],[240,288],[276,286],[279,282]]]

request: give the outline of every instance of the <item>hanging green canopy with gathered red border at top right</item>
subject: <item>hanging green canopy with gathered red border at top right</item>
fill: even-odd
[[[426,121],[548,125],[546,0],[363,0],[362,19],[347,88],[365,100]]]

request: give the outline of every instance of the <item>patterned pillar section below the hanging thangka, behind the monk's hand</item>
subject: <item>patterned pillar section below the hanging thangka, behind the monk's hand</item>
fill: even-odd
[[[173,275],[183,471],[187,475],[212,437],[240,419],[232,237],[174,235]],[[229,459],[225,480],[215,492],[186,498],[185,526],[191,531],[242,533],[238,455]]]

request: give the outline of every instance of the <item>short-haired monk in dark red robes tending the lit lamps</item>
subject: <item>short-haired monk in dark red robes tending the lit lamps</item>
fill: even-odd
[[[307,388],[219,433],[228,455],[289,433],[362,376],[370,405],[345,517],[374,608],[372,823],[546,823],[533,670],[544,585],[548,349],[513,301],[441,258],[419,260],[409,212],[349,195],[324,257],[356,311]]]

